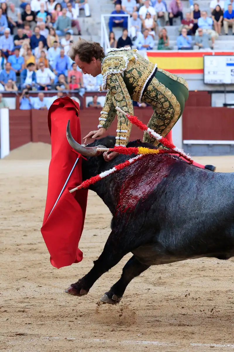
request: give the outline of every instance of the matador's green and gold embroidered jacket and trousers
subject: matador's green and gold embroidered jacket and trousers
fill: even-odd
[[[188,99],[187,82],[162,69],[130,48],[112,49],[102,61],[103,84],[108,89],[98,128],[111,126],[115,107],[133,115],[132,100],[152,105],[154,112],[148,127],[165,137],[181,116]],[[118,127],[116,145],[126,146],[132,124],[117,113]],[[158,145],[147,133],[143,142]]]

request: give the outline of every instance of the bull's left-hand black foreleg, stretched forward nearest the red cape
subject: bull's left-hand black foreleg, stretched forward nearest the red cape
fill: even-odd
[[[129,236],[126,233],[120,233],[118,230],[113,229],[107,239],[103,252],[100,257],[94,261],[93,268],[76,283],[71,284],[65,292],[74,296],[87,295],[89,289],[102,274],[118,264],[123,256],[133,250],[131,243],[134,243],[135,237],[134,241],[132,241],[132,239],[133,237],[131,237],[131,241],[129,241]],[[135,245],[136,243],[134,243],[134,247]]]

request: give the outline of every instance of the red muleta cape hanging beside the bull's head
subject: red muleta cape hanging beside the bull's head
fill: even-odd
[[[51,255],[51,264],[58,269],[62,266],[78,263],[83,258],[78,244],[83,231],[88,195],[87,189],[81,189],[72,194],[69,192],[70,189],[82,182],[82,158],[80,157],[51,213],[78,158],[67,141],[68,120],[70,120],[74,139],[81,143],[79,104],[68,96],[56,99],[48,112],[52,157],[49,164],[46,208],[41,233]]]

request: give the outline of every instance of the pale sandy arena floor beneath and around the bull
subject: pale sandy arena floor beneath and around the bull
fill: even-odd
[[[234,171],[234,157],[195,160]],[[0,161],[0,351],[234,351],[234,258],[152,266],[129,284],[118,306],[99,307],[128,255],[87,296],[65,294],[101,253],[111,216],[90,192],[84,259],[53,268],[40,233],[48,165]]]

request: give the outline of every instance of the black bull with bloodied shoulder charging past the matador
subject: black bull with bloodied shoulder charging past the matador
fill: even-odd
[[[99,144],[113,147],[115,138],[96,140],[91,146]],[[80,150],[74,140],[71,145]],[[135,141],[128,146],[149,145]],[[105,162],[100,155],[87,157],[82,161],[83,180],[128,158],[119,155]],[[66,293],[87,294],[95,281],[129,252],[133,256],[123,267],[121,278],[101,301],[118,303],[129,282],[151,265],[234,256],[233,173],[203,170],[176,156],[149,155],[90,189],[113,215],[111,233],[93,268]]]

